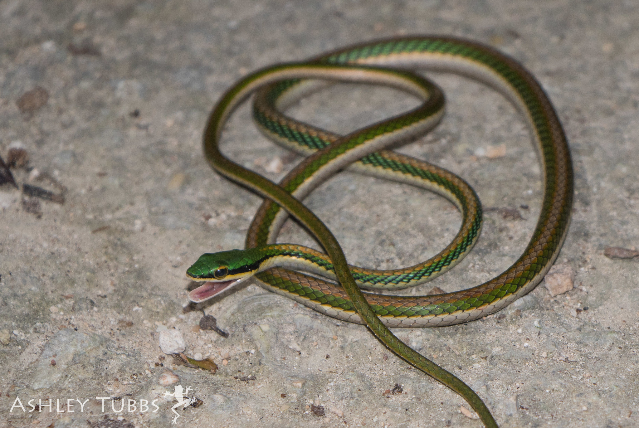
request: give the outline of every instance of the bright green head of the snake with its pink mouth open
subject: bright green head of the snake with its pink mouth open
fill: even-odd
[[[200,256],[187,270],[187,278],[204,285],[191,291],[189,299],[204,302],[252,277],[260,264],[252,253],[251,250],[230,250]]]

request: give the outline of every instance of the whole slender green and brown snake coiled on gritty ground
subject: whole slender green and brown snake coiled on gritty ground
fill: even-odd
[[[400,289],[440,275],[473,247],[481,228],[481,204],[461,178],[385,150],[423,135],[442,118],[442,92],[409,71],[412,69],[452,72],[479,80],[497,89],[523,114],[543,171],[541,213],[521,257],[483,284],[429,296],[362,293],[360,287]],[[417,96],[422,104],[344,136],[281,113],[302,96],[325,86],[322,80],[391,86]],[[261,131],[273,141],[308,155],[279,185],[235,164],[219,149],[230,114],[256,91],[253,111]],[[368,42],[302,63],[270,66],[247,75],[222,95],[204,131],[204,154],[216,171],[265,197],[265,202],[250,225],[247,249],[203,254],[187,270],[189,279],[205,282],[190,292],[193,302],[203,302],[254,278],[266,289],[318,312],[366,325],[396,355],[461,395],[486,427],[497,427],[470,387],[406,346],[388,327],[443,326],[484,317],[532,290],[555,261],[572,211],[573,168],[557,114],[523,66],[481,43],[440,36]],[[300,202],[321,182],[346,168],[429,188],[449,198],[463,215],[456,238],[429,261],[408,268],[378,271],[348,265],[330,230]],[[319,241],[326,254],[301,245],[275,243],[289,215]]]

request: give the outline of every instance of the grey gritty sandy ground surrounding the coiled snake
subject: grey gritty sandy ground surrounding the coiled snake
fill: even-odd
[[[0,187],[0,341],[8,342],[0,426],[169,426],[173,397],[159,382],[172,370],[179,381],[167,390],[189,386],[201,400],[178,408],[176,426],[480,427],[460,413],[460,397],[363,326],[256,285],[187,305],[186,268],[203,252],[242,247],[260,203],[201,154],[220,93],[260,66],[411,33],[495,45],[548,91],[576,174],[559,257],[575,288],[551,298],[540,286],[518,310],[398,337],[471,385],[502,427],[639,426],[639,261],[603,256],[639,238],[639,6],[466,3],[0,1],[0,155],[26,150],[26,166],[12,170],[20,187],[66,188],[61,204]],[[469,80],[431,77],[445,90],[447,116],[401,151],[457,172],[484,207],[514,208],[523,219],[486,213],[472,254],[408,294],[500,273],[525,247],[541,201],[539,166],[514,109]],[[397,91],[344,85],[291,114],[348,132],[412,105]],[[486,156],[502,144],[503,156]],[[273,180],[298,160],[259,135],[247,106],[231,119],[224,151]],[[461,221],[441,197],[346,173],[307,204],[351,263],[374,268],[436,254]],[[291,223],[280,241],[316,245]],[[200,330],[203,312],[229,337]],[[174,365],[158,346],[173,328],[186,355],[210,356],[219,370]],[[141,406],[156,399],[157,409]],[[30,400],[38,406],[29,413]]]

